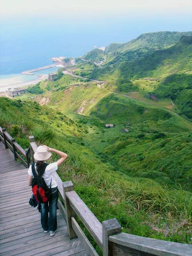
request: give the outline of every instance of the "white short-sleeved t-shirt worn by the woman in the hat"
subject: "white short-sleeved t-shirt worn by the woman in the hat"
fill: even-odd
[[[52,188],[57,187],[57,182],[52,178],[52,173],[54,171],[57,171],[57,168],[58,168],[57,162],[51,163],[51,164],[47,165],[47,167],[45,168],[45,172],[42,175],[42,178],[44,178],[44,181],[47,184],[48,188],[50,188],[50,185]],[[36,170],[36,164],[35,164],[35,170]],[[37,173],[37,171],[36,171],[36,173]],[[33,176],[31,165],[29,166],[28,174]]]

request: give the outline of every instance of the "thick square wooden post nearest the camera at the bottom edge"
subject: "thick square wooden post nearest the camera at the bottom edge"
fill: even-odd
[[[103,233],[103,256],[113,255],[113,243],[108,240],[108,237],[121,232],[121,225],[116,218],[104,220],[102,222]]]

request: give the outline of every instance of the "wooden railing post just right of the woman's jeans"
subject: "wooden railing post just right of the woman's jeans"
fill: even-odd
[[[64,195],[64,202],[65,202],[65,213],[66,213],[66,222],[68,228],[68,236],[70,239],[77,237],[74,229],[72,228],[71,217],[76,219],[76,213],[72,209],[69,204],[69,199],[65,195],[66,192],[74,190],[74,186],[71,180],[63,182],[63,195]]]

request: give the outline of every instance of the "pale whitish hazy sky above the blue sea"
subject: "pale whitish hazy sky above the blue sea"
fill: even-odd
[[[112,14],[131,16],[189,15],[192,0],[1,0],[1,17],[54,16],[100,17]],[[83,18],[82,17],[82,18]],[[102,18],[102,16],[101,16]]]

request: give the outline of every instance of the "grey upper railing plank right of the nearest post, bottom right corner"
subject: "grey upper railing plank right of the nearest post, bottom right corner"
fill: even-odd
[[[121,255],[157,255],[157,256],[191,256],[192,245],[163,241],[126,233],[109,236],[108,240],[114,243],[115,252],[121,250]],[[127,248],[127,254],[125,250]],[[131,250],[133,249],[133,250]],[[132,251],[132,254],[130,252]],[[137,251],[137,254],[135,254]],[[113,252],[114,255],[120,255]],[[124,252],[124,253],[123,253]],[[139,253],[140,252],[140,253]],[[128,254],[129,253],[129,254]],[[146,254],[145,254],[146,253]]]

